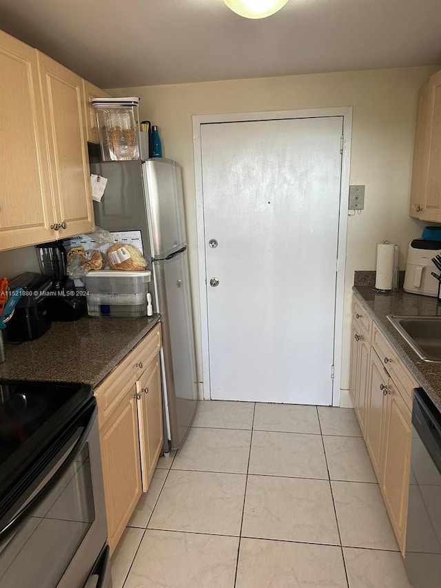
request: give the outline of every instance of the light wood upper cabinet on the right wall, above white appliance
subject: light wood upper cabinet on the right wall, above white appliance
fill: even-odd
[[[409,214],[441,223],[441,71],[420,90]]]

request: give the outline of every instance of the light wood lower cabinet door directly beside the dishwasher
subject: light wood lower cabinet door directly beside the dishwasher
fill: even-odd
[[[411,411],[393,381],[390,381],[388,392],[380,486],[398,544],[404,554],[412,440]]]

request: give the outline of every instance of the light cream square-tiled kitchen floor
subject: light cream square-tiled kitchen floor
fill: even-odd
[[[352,409],[203,401],[114,588],[410,588]]]

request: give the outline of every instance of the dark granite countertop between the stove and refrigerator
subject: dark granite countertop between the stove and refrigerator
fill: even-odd
[[[85,316],[72,323],[52,323],[35,341],[6,343],[0,379],[81,382],[95,387],[160,318],[160,314],[141,318]]]

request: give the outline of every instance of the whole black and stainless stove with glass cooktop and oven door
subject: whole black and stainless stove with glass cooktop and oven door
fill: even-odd
[[[112,588],[96,399],[0,380],[0,587]]]

